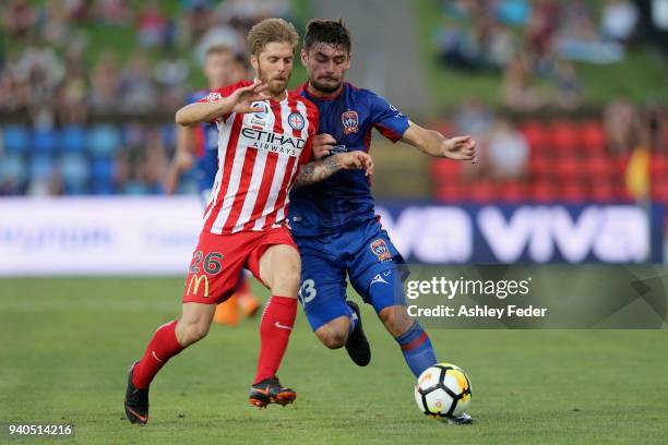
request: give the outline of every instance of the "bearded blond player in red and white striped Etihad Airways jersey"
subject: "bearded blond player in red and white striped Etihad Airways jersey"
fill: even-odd
[[[272,291],[260,324],[250,402],[286,405],[297,397],[276,377],[295,323],[301,268],[286,221],[289,191],[341,169],[373,170],[363,152],[311,161],[318,110],[286,89],[298,39],[282,19],[260,22],[248,35],[255,81],[216,89],[177,112],[182,125],[216,122],[218,172],[186,280],[181,317],[160,326],[130,369],[124,408],[132,423],[146,423],[148,385],[167,360],[207,334],[216,304],[234,292],[242,267]]]

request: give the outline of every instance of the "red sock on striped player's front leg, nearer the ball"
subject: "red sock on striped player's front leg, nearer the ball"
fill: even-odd
[[[264,308],[260,322],[260,358],[255,382],[273,377],[287,349],[295,317],[297,299],[273,296]]]

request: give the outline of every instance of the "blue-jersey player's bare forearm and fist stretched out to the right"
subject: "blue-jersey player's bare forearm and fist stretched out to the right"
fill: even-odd
[[[476,141],[470,136],[448,139],[434,130],[424,129],[410,123],[402,141],[430,156],[446,157],[455,160],[476,163]]]

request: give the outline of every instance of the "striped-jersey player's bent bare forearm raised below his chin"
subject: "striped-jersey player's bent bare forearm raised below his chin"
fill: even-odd
[[[259,112],[261,108],[252,107],[254,100],[265,97],[262,93],[266,85],[255,81],[252,85],[237,88],[232,94],[215,101],[194,103],[184,106],[176,113],[176,122],[180,125],[194,125],[201,122],[211,122],[231,112]]]

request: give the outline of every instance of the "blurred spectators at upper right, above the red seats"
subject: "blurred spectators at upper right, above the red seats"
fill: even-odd
[[[634,41],[630,0],[441,0],[438,55],[450,69],[500,72],[503,104],[532,111],[582,103],[575,62],[613,63]]]

